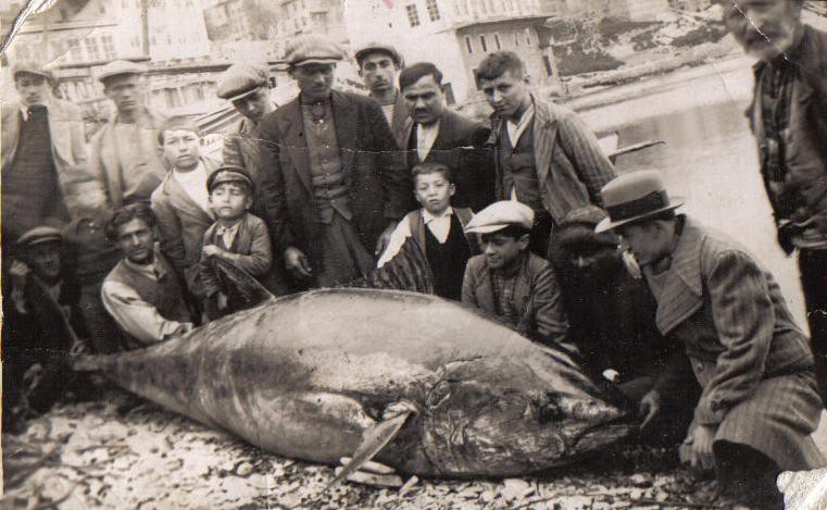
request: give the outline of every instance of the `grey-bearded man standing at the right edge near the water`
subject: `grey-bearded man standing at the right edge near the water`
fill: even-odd
[[[799,271],[822,400],[827,402],[827,34],[801,21],[803,0],[735,0],[729,32],[759,59],[747,111],[778,241]]]

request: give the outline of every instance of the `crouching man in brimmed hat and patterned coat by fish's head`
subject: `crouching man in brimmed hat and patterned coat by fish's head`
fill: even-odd
[[[813,356],[773,275],[732,239],[676,215],[656,171],[624,174],[602,196],[609,217],[596,232],[614,229],[631,248],[657,328],[682,344],[703,387],[681,460],[714,467],[734,502],[780,508],[778,473],[824,458],[810,437],[822,410]]]

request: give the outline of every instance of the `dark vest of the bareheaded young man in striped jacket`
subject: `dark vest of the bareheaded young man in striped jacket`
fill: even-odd
[[[502,184],[505,197],[511,197],[516,189],[517,199],[534,209],[538,215],[548,215],[540,198],[540,179],[537,177],[537,164],[534,158],[534,120],[517,140],[517,147],[511,145],[509,130],[500,129],[500,150],[497,157],[502,169]]]

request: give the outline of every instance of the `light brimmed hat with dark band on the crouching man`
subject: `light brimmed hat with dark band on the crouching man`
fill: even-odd
[[[663,176],[656,170],[639,170],[612,179],[600,191],[609,213],[594,232],[611,231],[631,222],[644,220],[665,211],[677,209],[684,201],[669,200]]]

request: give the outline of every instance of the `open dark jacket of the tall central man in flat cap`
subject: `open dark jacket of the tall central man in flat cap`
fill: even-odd
[[[406,212],[410,178],[381,107],[350,92],[334,90],[331,97],[351,223],[365,248],[373,251],[388,223]],[[274,250],[281,254],[295,246],[314,265],[321,254],[321,231],[299,98],[264,117],[260,134],[264,220]]]

